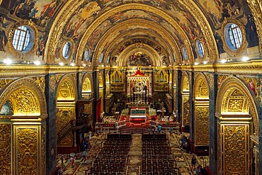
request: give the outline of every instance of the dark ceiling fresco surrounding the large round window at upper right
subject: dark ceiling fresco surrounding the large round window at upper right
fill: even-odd
[[[217,47],[219,52],[224,52],[222,48],[222,32],[221,26],[225,18],[236,18],[245,26],[246,40],[249,43],[248,47],[258,45],[258,35],[256,33],[256,26],[254,17],[251,14],[249,5],[245,0],[215,0],[215,1],[196,1],[196,3],[205,11],[207,20],[214,30],[215,38],[217,40]]]

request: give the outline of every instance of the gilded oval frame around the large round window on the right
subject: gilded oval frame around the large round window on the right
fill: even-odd
[[[229,34],[227,33],[227,30],[225,30],[225,29],[226,29],[227,24],[229,24],[229,23],[235,23],[237,26],[239,26],[241,33],[242,33],[242,44],[236,50],[230,49],[227,45],[226,38],[229,38]],[[241,23],[240,21],[237,21],[237,19],[234,19],[234,18],[225,18],[223,23],[222,23],[222,26],[221,26],[221,31],[222,31],[221,39],[222,39],[222,42],[223,42],[223,47],[224,47],[224,50],[229,55],[236,57],[236,56],[241,55],[241,53],[244,52],[244,50],[246,50],[248,43],[246,41],[246,30],[245,30],[245,26],[244,26],[243,23]]]

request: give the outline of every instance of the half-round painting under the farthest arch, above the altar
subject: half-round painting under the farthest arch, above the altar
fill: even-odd
[[[130,66],[149,66],[152,65],[151,58],[144,52],[134,52],[127,60]]]

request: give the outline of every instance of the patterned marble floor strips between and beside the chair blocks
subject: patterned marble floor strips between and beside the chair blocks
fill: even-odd
[[[59,154],[57,157],[57,165],[62,166],[62,158],[63,168],[60,170],[60,174],[67,175],[84,175],[89,171],[91,164],[96,159],[96,155],[99,152],[99,149],[103,146],[103,141],[106,140],[107,133],[101,133],[99,135],[94,135],[91,139],[91,149],[88,151],[88,156],[86,161],[81,157],[81,153],[76,154],[76,159],[74,161],[74,166],[71,166],[71,162],[69,159],[69,154]],[[171,147],[171,152],[176,160],[176,166],[178,167],[180,174],[194,174],[193,170],[190,169],[190,160],[193,154],[186,153],[179,147],[178,140],[181,139],[181,133],[173,133],[170,135],[167,133],[169,144]],[[186,134],[183,134],[186,135]],[[188,136],[188,135],[186,135]],[[197,157],[198,164],[202,166],[209,165],[208,157]],[[141,174],[141,164],[142,164],[142,135],[141,134],[133,134],[132,135],[132,143],[130,147],[130,152],[127,157],[127,164],[125,165],[125,174],[126,175],[139,175]]]

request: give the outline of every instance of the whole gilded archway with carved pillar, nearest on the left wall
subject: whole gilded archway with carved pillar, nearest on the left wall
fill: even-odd
[[[17,79],[2,89],[0,98],[1,113],[8,112],[0,120],[1,172],[45,174],[47,105],[43,89],[34,79]]]

